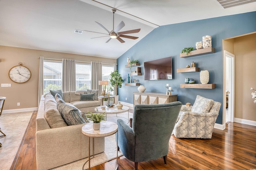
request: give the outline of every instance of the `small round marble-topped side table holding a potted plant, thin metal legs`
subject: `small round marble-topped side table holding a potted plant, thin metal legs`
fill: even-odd
[[[108,137],[116,133],[116,169],[118,168],[118,125],[114,122],[110,121],[102,121],[100,122],[100,130],[94,130],[92,128],[92,122],[87,123],[82,127],[82,133],[89,137],[88,144],[88,163],[89,170],[91,169],[90,164],[90,138],[92,137],[92,146],[93,146],[93,157],[94,158],[94,138],[95,137]],[[87,162],[87,161],[86,161]],[[84,163],[84,165],[86,164]],[[84,170],[84,166],[83,166]]]

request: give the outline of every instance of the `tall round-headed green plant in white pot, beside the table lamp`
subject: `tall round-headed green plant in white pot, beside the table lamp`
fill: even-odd
[[[118,104],[117,88],[121,88],[123,79],[117,70],[110,74],[110,84],[114,88],[115,104]]]

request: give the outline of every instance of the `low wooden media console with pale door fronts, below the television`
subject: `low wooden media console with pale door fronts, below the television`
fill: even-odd
[[[165,93],[133,92],[133,104],[164,104],[177,102],[178,94],[167,96]]]

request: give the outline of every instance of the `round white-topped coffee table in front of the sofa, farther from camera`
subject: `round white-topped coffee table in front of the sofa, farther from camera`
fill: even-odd
[[[94,109],[97,113],[105,113],[106,114],[106,121],[107,121],[107,114],[116,114],[116,117],[118,113],[128,113],[128,119],[127,122],[129,123],[129,107],[123,106],[122,109],[117,109],[116,106],[114,107],[105,107],[105,109],[102,109],[102,106],[98,106]],[[125,117],[121,117],[126,119]]]

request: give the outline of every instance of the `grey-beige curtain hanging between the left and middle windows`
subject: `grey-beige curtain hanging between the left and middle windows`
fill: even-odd
[[[76,91],[76,60],[62,59],[62,91]]]

